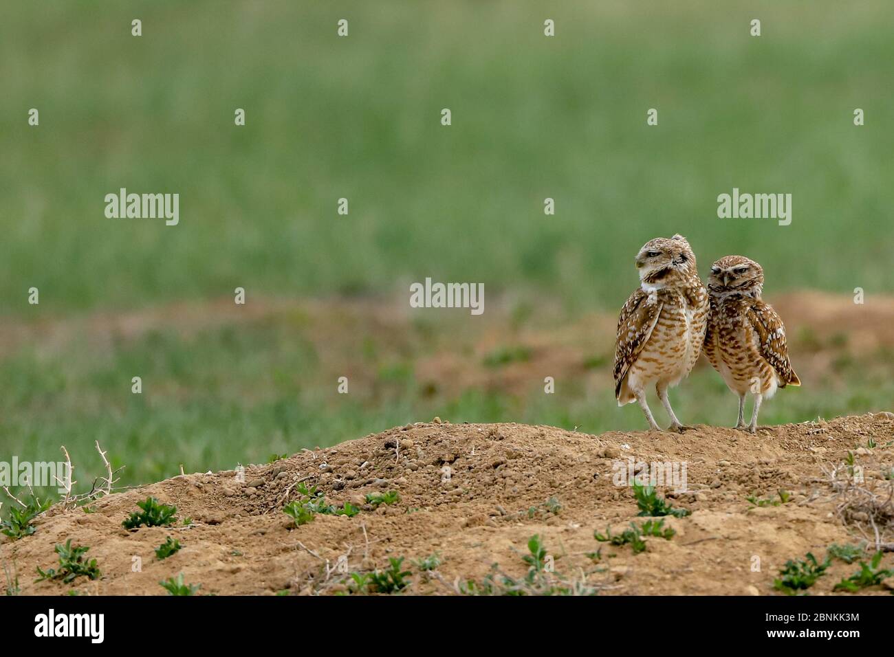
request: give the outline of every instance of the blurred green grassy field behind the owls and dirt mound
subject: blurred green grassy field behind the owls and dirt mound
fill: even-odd
[[[637,249],[674,232],[703,273],[760,261],[770,300],[890,293],[892,35],[887,0],[7,3],[0,460],[65,444],[83,475],[98,439],[137,484],[434,415],[644,428],[605,378],[613,334],[552,396],[536,367],[527,388],[458,388],[419,363],[523,365],[527,327],[614,316]],[[179,193],[180,224],[105,218],[122,187]],[[717,218],[734,187],[791,193],[791,225]],[[409,315],[426,276],[483,282],[486,319]],[[242,318],[220,310],[236,287]],[[763,423],[890,402],[890,345],[855,354],[847,328],[821,333],[798,333],[796,367],[822,363]],[[673,399],[684,421],[735,419],[710,369]]]

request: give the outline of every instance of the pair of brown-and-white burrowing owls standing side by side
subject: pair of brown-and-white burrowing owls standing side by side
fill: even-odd
[[[761,402],[777,388],[800,385],[789,362],[785,327],[761,299],[763,268],[743,256],[726,256],[711,266],[707,290],[698,277],[696,255],[682,235],[645,243],[637,254],[640,286],[618,318],[615,342],[615,397],[623,406],[637,401],[645,419],[659,430],[645,400],[649,386],[671,417],[669,431],[682,432],[668,400],[699,354],[711,361],[738,395],[737,429],[757,429]],[[755,397],[745,424],[746,393]]]

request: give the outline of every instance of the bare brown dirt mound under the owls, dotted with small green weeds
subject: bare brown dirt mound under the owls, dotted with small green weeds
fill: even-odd
[[[34,535],[6,539],[0,561],[14,565],[22,594],[72,587],[81,594],[164,594],[159,581],[179,573],[206,594],[311,594],[345,590],[340,557],[349,571],[406,557],[408,591],[450,594],[458,579],[481,582],[494,563],[523,577],[527,540],[540,535],[557,572],[607,594],[773,594],[787,560],[806,552],[822,559],[830,543],[861,538],[839,518],[840,498],[823,473],[848,451],[867,483],[890,485],[884,473],[894,465],[894,415],[762,427],[756,435],[708,426],[682,435],[593,436],[550,426],[417,423],[247,467],[244,481],[236,471],[176,476],[101,498],[91,512],[55,507],[35,521]],[[628,459],[685,462],[687,492],[670,485],[660,491],[692,512],[664,518],[676,535],[647,538],[645,552],[636,554],[594,538],[594,530],[611,525],[620,532],[644,519],[637,518],[632,489],[613,481]],[[350,501],[360,512],[317,514],[294,526],[282,508],[298,496],[299,484],[316,485],[329,504]],[[367,504],[367,493],[392,490],[400,501]],[[780,490],[790,497],[774,505]],[[746,501],[751,495],[766,505]],[[192,524],[126,531],[122,520],[148,496],[175,505],[178,518]],[[169,535],[182,548],[158,560],[154,550]],[[89,546],[102,577],[33,583],[38,566],[57,566],[55,545],[68,539]],[[891,539],[882,531],[882,540]],[[600,547],[598,559],[588,556]],[[432,577],[410,565],[434,553],[442,565]],[[883,567],[891,568],[889,561]],[[831,593],[855,570],[835,561],[811,593]],[[878,585],[864,592],[888,593]]]

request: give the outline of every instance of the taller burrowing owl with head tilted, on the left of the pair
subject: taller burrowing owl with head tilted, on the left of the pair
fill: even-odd
[[[623,406],[633,400],[649,426],[658,425],[645,400],[655,392],[671,417],[671,431],[682,431],[668,400],[668,387],[689,374],[702,350],[708,295],[698,277],[696,255],[686,238],[657,238],[637,255],[640,286],[620,310],[615,341],[615,397]]]

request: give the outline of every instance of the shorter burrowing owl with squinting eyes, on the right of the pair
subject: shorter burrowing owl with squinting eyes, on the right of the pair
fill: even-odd
[[[721,257],[708,279],[711,316],[704,338],[704,355],[738,394],[737,429],[745,425],[746,392],[755,395],[752,434],[757,430],[761,401],[777,388],[800,385],[789,362],[785,326],[780,316],[763,303],[763,268],[744,256]]]

